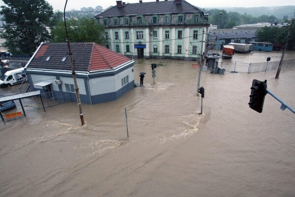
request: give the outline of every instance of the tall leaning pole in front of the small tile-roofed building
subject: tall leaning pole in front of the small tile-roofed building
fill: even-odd
[[[80,113],[80,119],[81,119],[81,124],[82,126],[85,124],[84,122],[84,117],[83,117],[83,112],[82,112],[82,106],[81,106],[81,100],[80,100],[80,94],[79,94],[79,88],[77,84],[77,76],[75,72],[75,63],[73,60],[72,52],[71,52],[71,46],[70,46],[70,41],[68,38],[67,30],[66,30],[66,20],[65,20],[65,7],[66,7],[67,0],[64,5],[64,10],[63,10],[63,19],[64,19],[64,27],[65,27],[65,33],[66,33],[66,41],[69,49],[69,56],[70,56],[70,63],[71,63],[71,68],[72,68],[72,75],[73,75],[73,80],[74,80],[74,85],[75,85],[75,91],[76,91],[76,98],[77,98],[77,103],[79,107],[79,113]]]

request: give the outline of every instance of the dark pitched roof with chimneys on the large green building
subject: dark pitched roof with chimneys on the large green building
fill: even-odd
[[[116,5],[98,15],[98,17],[126,16],[138,14],[165,14],[165,13],[189,13],[201,12],[196,6],[182,0],[181,3],[175,3],[174,0],[162,0],[142,3],[126,3],[122,7]]]

